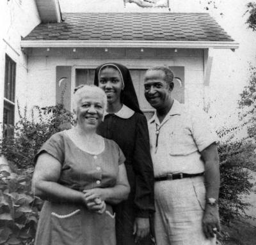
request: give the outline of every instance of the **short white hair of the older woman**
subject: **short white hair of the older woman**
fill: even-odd
[[[96,93],[99,94],[103,103],[103,108],[106,110],[107,107],[107,96],[102,89],[95,85],[79,85],[74,89],[73,96],[73,108],[76,111],[77,105],[79,101],[86,96],[88,93]]]

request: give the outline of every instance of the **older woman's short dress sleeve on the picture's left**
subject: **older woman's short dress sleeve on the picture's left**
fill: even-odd
[[[43,152],[47,152],[48,154],[50,154],[51,156],[53,156],[54,158],[56,158],[56,160],[60,161],[61,165],[64,161],[64,142],[63,142],[63,135],[61,135],[60,133],[55,133],[54,135],[52,135],[51,138],[49,138],[40,148],[40,150],[37,152],[36,156],[35,156],[35,162],[38,158],[38,156],[40,156],[40,154],[42,154]]]

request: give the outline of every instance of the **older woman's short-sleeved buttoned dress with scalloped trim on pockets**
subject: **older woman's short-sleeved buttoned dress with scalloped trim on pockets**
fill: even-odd
[[[62,168],[59,184],[83,191],[109,188],[116,184],[118,165],[125,157],[118,145],[104,139],[104,149],[90,154],[77,147],[62,131],[52,135],[37,156],[47,152]],[[103,214],[89,211],[85,205],[45,201],[40,212],[35,245],[115,245],[115,217],[107,204]]]

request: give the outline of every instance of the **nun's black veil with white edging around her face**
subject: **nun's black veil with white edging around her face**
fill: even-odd
[[[121,102],[124,103],[124,105],[126,105],[127,107],[134,110],[134,112],[143,114],[139,107],[138,98],[136,96],[135,89],[132,84],[132,78],[131,78],[130,72],[122,64],[106,63],[106,64],[102,64],[101,66],[98,66],[95,71],[94,84],[99,86],[99,73],[102,70],[102,68],[104,68],[105,66],[106,67],[112,66],[116,70],[120,71],[122,75],[123,82],[124,82],[124,90],[122,90],[120,95]]]

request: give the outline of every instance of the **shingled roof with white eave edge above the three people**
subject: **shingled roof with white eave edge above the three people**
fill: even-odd
[[[61,23],[39,24],[22,48],[238,48],[208,13],[63,13]]]

